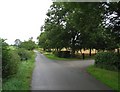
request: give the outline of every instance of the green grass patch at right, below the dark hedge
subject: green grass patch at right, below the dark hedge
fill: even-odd
[[[88,73],[94,76],[96,79],[100,80],[104,84],[111,87],[113,90],[119,90],[120,87],[118,86],[118,74],[120,72],[109,71],[105,69],[96,68],[95,66],[90,66],[87,68]]]

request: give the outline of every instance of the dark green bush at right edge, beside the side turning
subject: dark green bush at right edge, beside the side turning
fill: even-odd
[[[120,70],[120,60],[116,53],[113,52],[100,52],[95,56],[96,67],[108,70]]]

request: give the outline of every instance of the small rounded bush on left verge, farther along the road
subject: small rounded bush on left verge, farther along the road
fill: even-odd
[[[32,56],[30,51],[28,51],[24,48],[19,48],[18,49],[18,55],[20,56],[21,61],[28,60]]]

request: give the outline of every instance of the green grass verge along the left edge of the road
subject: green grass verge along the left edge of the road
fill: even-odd
[[[5,80],[3,90],[30,90],[34,58],[35,55],[30,60],[20,62],[17,74]]]

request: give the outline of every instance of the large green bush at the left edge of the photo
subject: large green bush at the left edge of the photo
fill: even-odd
[[[7,78],[16,73],[19,61],[17,52],[8,49],[8,44],[2,40],[2,77]]]

